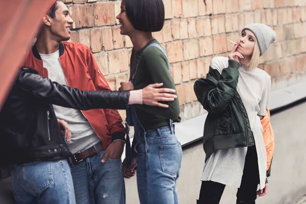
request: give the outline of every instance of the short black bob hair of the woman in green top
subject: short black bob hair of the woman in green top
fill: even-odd
[[[164,26],[165,8],[162,0],[125,0],[125,10],[136,30],[157,32]]]

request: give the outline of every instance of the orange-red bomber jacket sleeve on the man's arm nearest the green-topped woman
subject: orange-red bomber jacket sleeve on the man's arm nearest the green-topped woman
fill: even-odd
[[[111,91],[112,89],[109,87],[107,80],[104,75],[100,71],[90,49],[87,47],[87,64],[88,71],[92,82],[96,88],[96,90],[100,91]],[[108,122],[109,130],[112,135],[112,141],[115,140],[123,140],[125,141],[125,130],[122,124],[122,118],[118,112],[118,110],[113,109],[105,109],[104,110],[106,120]]]

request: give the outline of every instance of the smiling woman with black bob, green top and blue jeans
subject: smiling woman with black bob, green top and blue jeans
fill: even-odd
[[[164,25],[163,1],[123,0],[117,19],[121,24],[121,35],[129,36],[134,45],[130,82],[121,83],[119,90],[138,90],[152,83],[163,83],[163,87],[175,89],[167,54],[152,37],[152,32],[162,30]],[[137,165],[137,187],[142,204],[178,203],[176,180],[182,162],[182,147],[172,122],[180,121],[180,103],[174,99],[165,105],[167,109],[146,105],[127,109],[127,123],[133,125],[135,131],[132,145],[135,154],[132,166],[124,168],[124,176],[133,176]]]

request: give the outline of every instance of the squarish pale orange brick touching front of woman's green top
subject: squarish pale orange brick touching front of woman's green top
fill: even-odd
[[[109,53],[110,73],[119,73],[129,70],[129,57],[126,50]]]

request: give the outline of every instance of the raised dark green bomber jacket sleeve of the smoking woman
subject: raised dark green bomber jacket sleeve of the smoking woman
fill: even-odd
[[[228,60],[228,67],[222,70],[220,79],[216,77],[218,70],[210,67],[206,79],[195,82],[195,95],[209,113],[223,112],[232,100],[238,84],[239,67],[240,64],[235,60]]]

